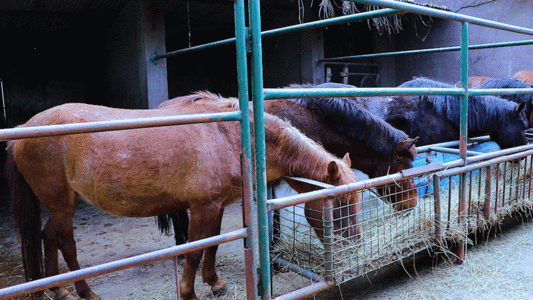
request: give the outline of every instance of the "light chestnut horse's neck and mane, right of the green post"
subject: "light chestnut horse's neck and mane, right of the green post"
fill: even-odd
[[[335,161],[339,166],[350,167],[346,166],[338,157],[327,152],[320,144],[305,136],[297,128],[291,126],[289,122],[269,113],[265,113],[265,134],[267,142],[271,139],[276,140],[275,143],[272,143],[275,146],[275,155],[280,160],[281,165],[288,168],[289,176],[325,181],[327,172],[324,167],[329,162]],[[345,169],[346,172],[348,172],[347,169]],[[352,174],[351,171],[348,173]]]

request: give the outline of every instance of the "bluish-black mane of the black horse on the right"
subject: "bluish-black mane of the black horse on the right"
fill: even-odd
[[[453,88],[454,86],[448,83],[417,77],[403,83],[400,87]],[[454,124],[459,124],[461,117],[461,97],[458,95],[407,96],[404,98],[427,101],[433,105],[438,114],[444,116]],[[504,122],[504,118],[509,116],[509,112],[514,109],[515,105],[513,102],[494,96],[469,96],[468,123],[470,130],[485,131],[493,126],[497,126],[494,121]]]

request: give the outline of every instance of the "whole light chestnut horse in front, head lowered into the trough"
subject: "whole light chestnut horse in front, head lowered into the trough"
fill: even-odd
[[[35,115],[21,127],[102,120],[158,117],[238,109],[235,99],[202,92],[153,110],[115,109],[65,104]],[[289,123],[265,114],[267,180],[306,177],[332,185],[357,181],[349,158],[340,160]],[[6,167],[12,207],[21,236],[27,280],[59,273],[58,250],[70,270],[80,268],[73,236],[77,203],[85,199],[118,216],[146,217],[190,209],[189,240],[220,233],[224,207],[240,197],[240,126],[238,122],[206,123],[126,131],[85,133],[10,141]],[[299,192],[312,188],[294,183]],[[334,230],[357,241],[360,237],[359,195],[333,201],[342,204]],[[50,218],[41,232],[40,203]],[[324,201],[308,203],[322,211]],[[321,214],[316,216],[320,219]],[[322,235],[322,222],[310,220]],[[217,247],[206,249],[202,277],[213,292],[226,283],[215,270]],[[180,281],[182,299],[196,299],[194,280],[203,250],[188,253]],[[85,280],[75,283],[78,295],[99,299]],[[63,287],[56,297],[68,295]]]

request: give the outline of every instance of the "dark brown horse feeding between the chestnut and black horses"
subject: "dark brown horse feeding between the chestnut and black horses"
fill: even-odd
[[[319,85],[318,87],[344,87]],[[291,87],[302,87],[292,85]],[[305,85],[303,87],[314,87]],[[291,123],[335,154],[350,153],[352,167],[370,178],[412,168],[416,138],[409,138],[358,104],[342,98],[302,98],[265,101],[265,112]],[[416,206],[412,179],[378,189],[397,210]]]

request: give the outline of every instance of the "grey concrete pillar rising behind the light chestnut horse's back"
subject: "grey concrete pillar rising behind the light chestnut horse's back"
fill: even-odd
[[[106,36],[105,91],[109,106],[153,108],[168,99],[164,11],[158,1],[128,1]]]

